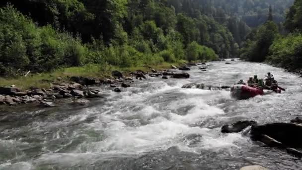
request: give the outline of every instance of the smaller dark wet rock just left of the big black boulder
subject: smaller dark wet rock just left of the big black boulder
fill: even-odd
[[[255,122],[255,121],[248,121],[248,120],[238,121],[233,124],[224,125],[221,128],[221,132],[222,133],[238,133],[238,132],[241,132],[243,129],[247,128],[248,126],[255,125],[255,124],[257,124],[257,122]]]

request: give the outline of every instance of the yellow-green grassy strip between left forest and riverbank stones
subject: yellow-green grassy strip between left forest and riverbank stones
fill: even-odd
[[[162,63],[156,66],[151,66],[155,70],[164,70],[170,69],[171,64],[179,65],[179,63]],[[100,65],[86,65],[83,67],[70,67],[64,69],[57,69],[51,73],[39,73],[32,74],[28,77],[16,77],[16,78],[0,78],[0,86],[11,86],[15,85],[21,89],[29,89],[30,87],[38,88],[48,88],[51,86],[50,83],[47,83],[43,80],[57,81],[57,78],[62,78],[62,81],[69,81],[68,77],[72,76],[82,76],[82,77],[92,77],[98,79],[105,79],[111,77],[111,72],[113,70],[118,70],[128,75],[131,72],[137,70],[142,70],[145,72],[151,72],[149,67],[139,66],[139,67],[113,67],[113,66],[100,66]]]

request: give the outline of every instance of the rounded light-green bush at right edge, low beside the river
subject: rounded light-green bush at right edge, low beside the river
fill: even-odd
[[[270,47],[267,61],[286,68],[302,68],[302,34],[277,38]]]

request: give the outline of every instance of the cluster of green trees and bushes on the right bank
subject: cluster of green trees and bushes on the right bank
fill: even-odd
[[[290,70],[302,68],[302,0],[295,0],[286,14],[283,35],[273,21],[267,21],[247,36],[241,58],[263,62]]]

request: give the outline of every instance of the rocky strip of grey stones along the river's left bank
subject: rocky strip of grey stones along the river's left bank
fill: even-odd
[[[203,63],[205,65],[205,63]],[[200,64],[201,65],[201,64]],[[188,67],[197,66],[197,64],[188,63],[181,67],[171,65],[170,70],[156,71],[151,68],[151,72],[138,70],[125,76],[119,71],[113,71],[110,79],[95,79],[89,77],[70,77],[68,81],[62,81],[57,78],[56,81],[42,80],[50,84],[50,88],[20,89],[14,85],[0,87],[0,104],[17,105],[27,103],[41,103],[45,107],[54,107],[57,100],[64,98],[73,98],[75,103],[87,103],[89,98],[102,98],[102,91],[91,88],[91,86],[109,86],[115,92],[123,91],[123,88],[131,86],[136,80],[146,80],[150,77],[159,77],[162,79],[186,79],[190,75],[185,71],[190,70]],[[184,69],[186,68],[186,69]],[[181,70],[181,73],[173,73]]]

